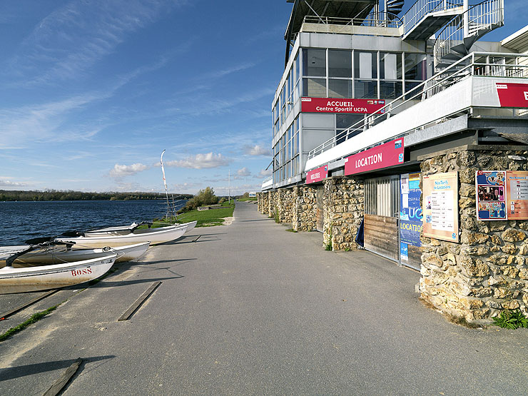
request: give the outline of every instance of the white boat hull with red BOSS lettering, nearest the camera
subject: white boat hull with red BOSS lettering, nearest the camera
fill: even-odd
[[[26,293],[78,285],[110,270],[115,253],[103,258],[31,268],[0,268],[0,294]]]

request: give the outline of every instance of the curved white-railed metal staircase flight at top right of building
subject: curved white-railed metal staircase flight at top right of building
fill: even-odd
[[[442,71],[469,54],[475,41],[504,25],[504,0],[486,0],[455,16],[438,35],[435,69]]]

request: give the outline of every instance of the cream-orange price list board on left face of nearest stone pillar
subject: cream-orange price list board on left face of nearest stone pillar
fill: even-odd
[[[458,242],[458,172],[423,177],[424,236]]]

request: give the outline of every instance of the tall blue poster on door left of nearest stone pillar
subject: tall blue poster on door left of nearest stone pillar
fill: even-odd
[[[400,241],[420,248],[422,206],[420,205],[420,173],[400,176]]]

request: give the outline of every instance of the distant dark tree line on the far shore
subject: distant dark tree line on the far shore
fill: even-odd
[[[169,198],[189,199],[192,194],[173,194]],[[164,193],[83,193],[81,191],[10,191],[0,190],[2,200],[143,200],[166,199]]]

